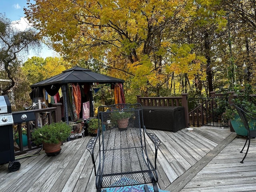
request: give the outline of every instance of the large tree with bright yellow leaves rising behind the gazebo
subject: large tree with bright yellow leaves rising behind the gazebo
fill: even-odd
[[[57,52],[72,60],[102,60],[109,75],[125,79],[133,94],[160,95],[173,74],[202,73],[192,45],[175,43],[170,34],[176,31],[168,30],[178,20],[180,27],[188,22],[192,0],[35,2],[25,10],[27,18]]]

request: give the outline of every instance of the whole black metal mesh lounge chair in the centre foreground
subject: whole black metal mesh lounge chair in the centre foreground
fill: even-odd
[[[108,109],[102,112],[102,107]],[[120,120],[121,117],[126,120]],[[153,184],[154,192],[158,192],[156,158],[160,140],[146,131],[142,106],[140,104],[101,106],[98,108],[98,119],[102,128],[98,129],[98,135],[87,145],[94,164],[97,192],[102,188],[140,184],[145,184],[144,189],[148,191],[146,184],[149,183]],[[148,158],[145,133],[154,143],[154,166]],[[100,146],[96,171],[94,148],[97,140]]]

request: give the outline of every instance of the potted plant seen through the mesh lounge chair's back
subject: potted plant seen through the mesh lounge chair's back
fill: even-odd
[[[112,124],[117,124],[119,130],[126,130],[132,113],[126,110],[113,111],[110,114]]]

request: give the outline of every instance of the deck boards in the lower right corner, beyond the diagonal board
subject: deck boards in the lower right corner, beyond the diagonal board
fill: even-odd
[[[244,153],[240,153],[245,138],[234,139],[210,161],[184,188],[182,192],[194,191],[255,191],[256,139],[251,139],[250,149],[241,164]]]

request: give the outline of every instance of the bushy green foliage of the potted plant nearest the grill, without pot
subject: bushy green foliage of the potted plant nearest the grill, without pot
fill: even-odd
[[[52,123],[34,130],[32,138],[35,144],[41,144],[42,142],[58,144],[70,136],[71,130],[71,126],[65,122]]]

